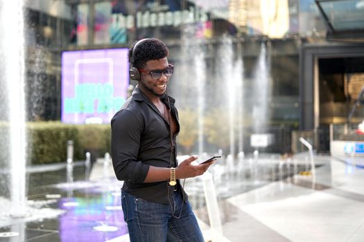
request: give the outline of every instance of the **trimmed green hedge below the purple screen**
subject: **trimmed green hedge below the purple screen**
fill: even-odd
[[[1,147],[8,149],[8,124],[0,124]],[[28,165],[65,162],[67,140],[73,140],[73,160],[85,160],[86,151],[110,153],[110,124],[62,124],[61,122],[28,122]],[[3,153],[6,153],[4,151]],[[1,157],[3,162],[8,155]],[[1,163],[0,162],[0,163]]]

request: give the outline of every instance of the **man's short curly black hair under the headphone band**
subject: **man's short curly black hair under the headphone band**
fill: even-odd
[[[150,38],[141,41],[134,51],[132,56],[133,48],[137,44],[137,41],[129,49],[129,62],[136,68],[144,68],[146,62],[153,59],[162,59],[168,56],[169,50],[161,40]]]

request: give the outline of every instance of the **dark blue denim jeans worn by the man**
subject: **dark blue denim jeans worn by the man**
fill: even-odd
[[[170,205],[146,201],[122,191],[121,205],[130,242],[204,241],[191,205],[183,202],[180,192],[173,192]],[[175,218],[180,215],[181,206],[181,216]]]

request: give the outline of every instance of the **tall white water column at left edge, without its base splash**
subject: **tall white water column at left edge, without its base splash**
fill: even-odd
[[[10,213],[19,217],[26,215],[26,128],[24,90],[24,13],[23,1],[1,1],[0,4],[0,59],[1,84],[6,86],[2,94],[8,125],[8,157],[3,165],[8,170],[8,191],[11,201]],[[9,26],[12,23],[12,26]],[[10,47],[11,46],[11,47]],[[2,115],[4,117],[4,115]],[[2,140],[1,149],[5,148]]]

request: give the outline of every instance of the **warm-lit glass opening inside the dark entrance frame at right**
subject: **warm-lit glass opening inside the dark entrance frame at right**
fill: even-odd
[[[318,59],[318,125],[362,122],[363,87],[364,57]]]

